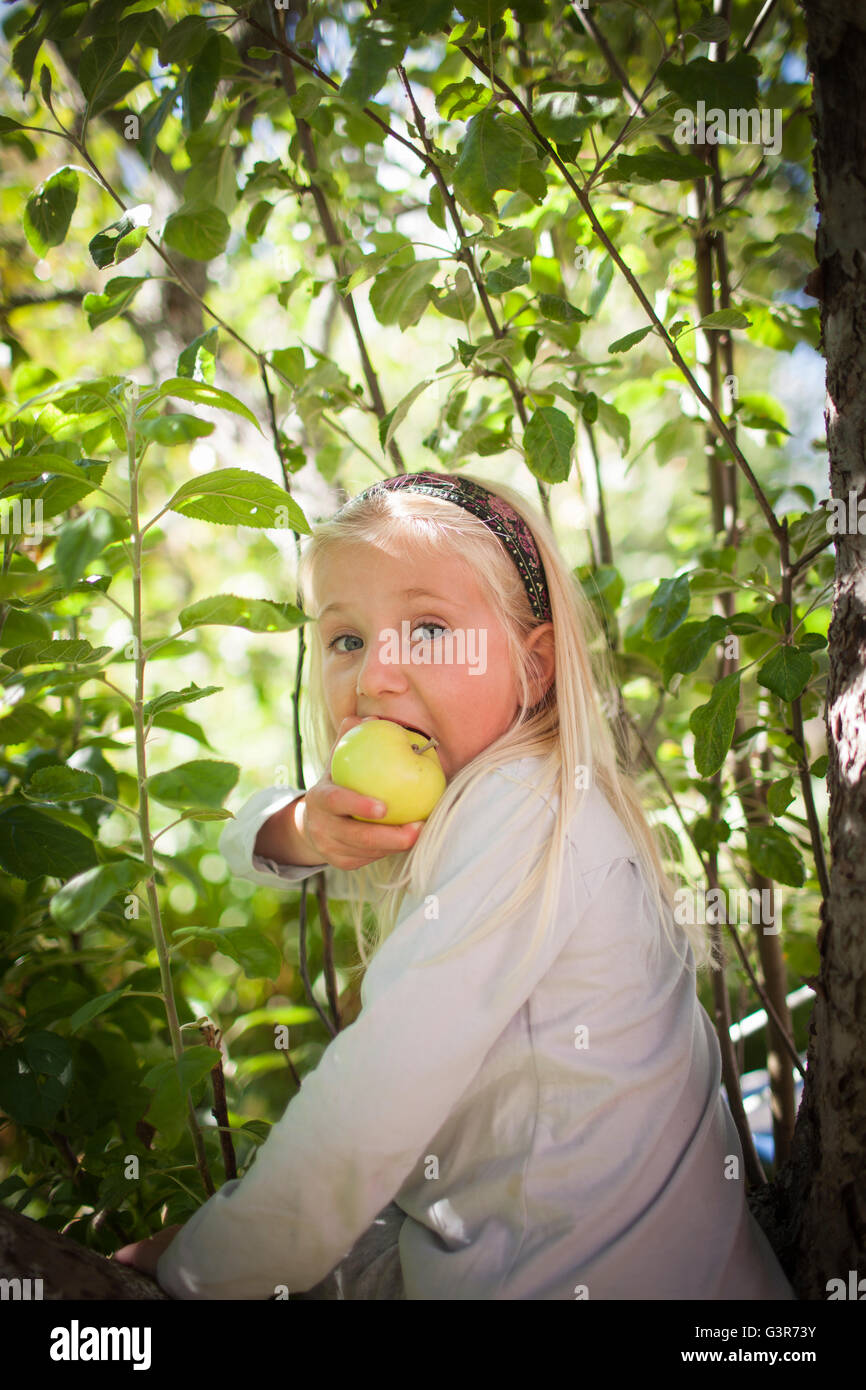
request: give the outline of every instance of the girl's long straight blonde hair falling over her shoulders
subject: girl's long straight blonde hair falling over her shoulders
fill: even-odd
[[[489,771],[527,756],[544,756],[537,791],[541,796],[559,794],[556,820],[546,851],[541,853],[534,872],[498,908],[477,933],[475,941],[495,930],[502,922],[531,901],[544,884],[535,933],[528,952],[516,970],[532,958],[544,937],[545,924],[553,920],[559,902],[566,830],[580,808],[578,770],[584,785],[594,781],[631,838],[642,865],[652,905],[674,947],[685,951],[681,956],[691,969],[712,963],[708,937],[702,923],[677,924],[673,919],[674,885],[664,870],[655,833],[645,816],[641,795],[631,776],[619,766],[617,744],[606,719],[603,702],[609,703],[616,689],[607,644],[595,613],[585,598],[580,581],[560,555],[553,531],[546,520],[524,498],[502,484],[460,471],[510,503],[530,527],[548,577],[556,676],[541,701],[531,703],[532,694],[542,688],[541,666],[534,651],[523,646],[527,635],[538,626],[523,580],[503,543],[471,513],[452,502],[409,491],[375,489],[368,496],[346,502],[338,516],[314,527],[302,550],[299,591],[304,612],[316,598],[316,575],[328,563],[338,546],[364,542],[389,546],[398,553],[411,546],[434,546],[467,563],[478,585],[496,613],[507,644],[509,662],[520,692],[520,709],[514,723],[473,758],[448,783],[445,792],[431,812],[424,830],[411,849],[377,859],[352,870],[357,895],[350,899],[354,935],[361,972],[371,956],[393,931],[400,903],[407,890],[423,898],[432,881],[442,841],[456,802]],[[314,606],[314,605],[313,605]],[[325,771],[336,741],[336,728],[328,716],[324,699],[321,642],[310,644],[309,705],[302,716],[302,728],[313,763]],[[541,809],[541,808],[539,808]],[[545,817],[546,819],[546,817]],[[542,817],[539,816],[539,821]],[[527,830],[527,838],[531,838]],[[530,848],[534,852],[534,847]],[[367,905],[375,906],[373,923],[366,929]],[[443,952],[445,959],[468,944]],[[652,942],[648,942],[651,947]],[[691,951],[691,962],[689,962]]]

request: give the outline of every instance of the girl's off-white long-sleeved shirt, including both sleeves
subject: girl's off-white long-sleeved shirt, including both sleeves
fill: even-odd
[[[307,1290],[393,1200],[407,1216],[407,1298],[795,1297],[745,1202],[694,974],[670,947],[651,960],[662,926],[596,787],[567,831],[556,917],[505,998],[537,902],[424,967],[530,873],[556,805],[534,784],[539,766],[488,773],[453,808],[435,883],[403,899],[364,976],[361,1013],[250,1170],[161,1255],[167,1293]],[[325,867],[253,852],[260,826],[297,795],[268,788],[242,808],[221,840],[234,873],[274,885]],[[352,876],[327,874],[345,897]]]

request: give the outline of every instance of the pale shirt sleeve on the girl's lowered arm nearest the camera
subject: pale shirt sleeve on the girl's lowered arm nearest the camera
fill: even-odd
[[[589,901],[581,876],[528,967],[541,895],[495,920],[549,841],[553,812],[505,769],[452,810],[430,892],[405,899],[374,955],[364,1008],[274,1125],[250,1170],[211,1197],[160,1257],[175,1298],[311,1289],[400,1190]],[[578,910],[575,910],[575,906]],[[467,938],[493,919],[493,930]],[[449,959],[436,960],[449,948]]]

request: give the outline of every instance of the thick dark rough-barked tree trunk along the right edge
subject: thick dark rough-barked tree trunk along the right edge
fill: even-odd
[[[862,0],[801,0],[813,75],[815,188],[820,299],[827,359],[830,491],[866,493],[866,10]],[[866,541],[835,538],[830,624],[830,897],[808,1074],[791,1161],[753,1194],[788,1277],[802,1298],[826,1298],[830,1279],[866,1273]]]

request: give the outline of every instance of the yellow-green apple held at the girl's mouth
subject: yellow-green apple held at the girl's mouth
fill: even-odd
[[[446,787],[439,755],[427,744],[423,734],[389,719],[367,719],[343,734],[331,758],[331,780],[388,806],[384,816],[353,820],[378,826],[427,820]]]

